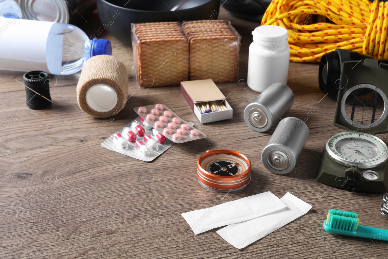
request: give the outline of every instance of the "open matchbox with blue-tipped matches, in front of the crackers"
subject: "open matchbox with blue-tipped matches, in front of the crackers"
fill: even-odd
[[[185,97],[187,103],[194,111],[201,123],[217,122],[233,118],[233,109],[226,101],[226,97],[211,79],[192,80],[180,82],[180,92]],[[220,101],[228,109],[226,111],[215,111],[201,113],[195,104],[209,101]]]

